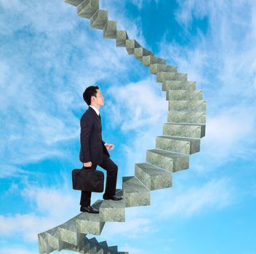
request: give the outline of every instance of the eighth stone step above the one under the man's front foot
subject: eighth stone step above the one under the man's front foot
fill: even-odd
[[[201,90],[169,90],[167,100],[200,100],[203,99]]]

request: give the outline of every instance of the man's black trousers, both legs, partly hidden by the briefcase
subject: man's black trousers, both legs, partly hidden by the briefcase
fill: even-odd
[[[117,171],[118,167],[110,157],[103,153],[103,162],[99,165],[100,168],[105,169],[107,171],[107,181],[105,184],[105,195],[113,196],[116,194],[116,179],[117,179]],[[92,165],[92,168],[97,168],[97,165]],[[84,192],[81,191],[81,206],[91,205],[91,196],[92,192]]]

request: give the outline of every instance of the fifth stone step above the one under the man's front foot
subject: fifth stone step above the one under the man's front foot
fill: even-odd
[[[201,139],[205,136],[205,124],[164,123],[163,134],[167,136],[184,136]]]

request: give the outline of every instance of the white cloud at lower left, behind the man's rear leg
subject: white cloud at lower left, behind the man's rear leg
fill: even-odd
[[[31,213],[0,215],[0,234],[3,237],[18,234],[25,241],[37,241],[37,234],[63,224],[79,213],[78,193],[71,192],[69,187],[33,186],[25,188],[22,194],[33,209]]]

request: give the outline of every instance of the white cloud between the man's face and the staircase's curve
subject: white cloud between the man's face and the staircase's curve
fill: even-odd
[[[107,95],[111,102],[105,107],[109,115],[117,115],[111,127],[121,126],[121,131],[139,130],[158,123],[166,117],[168,105],[165,92],[162,93],[161,85],[156,81],[146,79],[124,86],[111,86]]]

